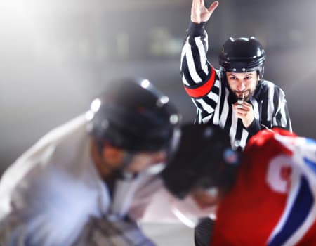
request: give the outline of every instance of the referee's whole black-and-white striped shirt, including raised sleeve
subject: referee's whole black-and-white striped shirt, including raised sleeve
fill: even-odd
[[[235,95],[221,72],[206,58],[208,37],[204,23],[191,23],[181,53],[181,76],[185,91],[197,108],[196,123],[218,124],[230,134],[232,144],[244,148],[246,141],[264,128],[282,127],[291,131],[291,120],[284,91],[261,79],[249,103],[254,108],[254,122],[248,128],[233,112]]]

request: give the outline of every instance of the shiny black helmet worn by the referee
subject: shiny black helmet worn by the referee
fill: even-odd
[[[226,72],[251,72],[257,70],[263,77],[265,50],[255,37],[230,37],[220,51],[219,64]]]

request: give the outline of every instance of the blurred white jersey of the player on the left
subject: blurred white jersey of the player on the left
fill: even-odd
[[[91,217],[142,218],[154,194],[190,210],[145,171],[114,187],[111,198],[91,160],[84,115],[72,119],[41,138],[2,176],[0,238],[6,245],[72,245]],[[147,221],[159,221],[161,213],[154,214],[147,213]]]

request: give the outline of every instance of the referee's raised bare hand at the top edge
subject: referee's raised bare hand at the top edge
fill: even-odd
[[[204,0],[192,0],[191,22],[197,24],[207,22],[218,4],[218,1],[214,1],[209,8],[206,8]]]

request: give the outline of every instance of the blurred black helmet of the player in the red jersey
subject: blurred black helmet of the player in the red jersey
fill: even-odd
[[[166,188],[182,199],[193,188],[231,187],[239,152],[230,137],[213,124],[184,124],[178,150],[162,172]]]

